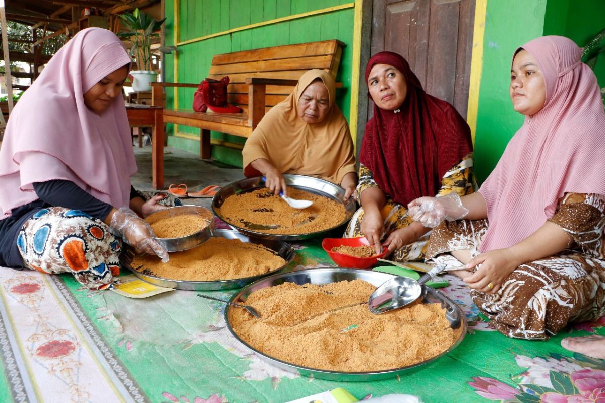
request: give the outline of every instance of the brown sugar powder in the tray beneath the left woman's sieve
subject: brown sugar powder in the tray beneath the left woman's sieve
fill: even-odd
[[[284,259],[261,245],[213,237],[197,248],[171,253],[168,263],[143,255],[134,257],[131,267],[162,279],[212,281],[257,276],[284,264]]]

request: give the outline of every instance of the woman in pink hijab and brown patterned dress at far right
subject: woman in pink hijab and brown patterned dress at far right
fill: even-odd
[[[525,123],[479,192],[410,211],[446,220],[427,256],[468,283],[495,329],[544,340],[605,314],[605,111],[580,48],[561,36],[518,48],[510,95]]]

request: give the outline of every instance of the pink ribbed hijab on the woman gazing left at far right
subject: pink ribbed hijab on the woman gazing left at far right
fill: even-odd
[[[540,37],[522,48],[540,67],[546,101],[525,118],[479,189],[489,220],[482,252],[534,233],[566,192],[605,195],[605,112],[595,74],[566,37]]]

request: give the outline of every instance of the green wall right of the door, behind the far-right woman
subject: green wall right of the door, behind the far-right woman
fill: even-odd
[[[562,35],[579,46],[605,28],[603,0],[487,0],[483,73],[475,141],[475,172],[485,180],[523,124],[508,95],[512,53],[531,39]],[[595,68],[605,86],[605,56]]]

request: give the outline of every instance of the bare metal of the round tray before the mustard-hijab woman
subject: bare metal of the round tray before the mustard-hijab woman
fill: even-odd
[[[340,221],[336,222],[329,228],[307,233],[292,233],[292,231],[288,231],[288,233],[283,234],[279,233],[278,227],[270,227],[270,224],[244,224],[243,222],[229,220],[229,218],[227,218],[221,211],[221,207],[225,201],[234,195],[241,195],[243,193],[263,189],[265,185],[263,179],[260,177],[241,179],[240,181],[233,182],[232,184],[223,187],[223,189],[221,189],[220,192],[218,192],[217,195],[215,195],[212,199],[212,211],[218,218],[229,224],[231,228],[234,228],[234,230],[240,231],[243,234],[263,239],[301,240],[321,236],[328,231],[346,224],[357,210],[355,200],[353,200],[353,198],[349,198],[347,201],[343,201],[345,190],[332,182],[325,181],[324,179],[314,178],[313,176],[304,175],[284,175],[284,179],[286,179],[286,184],[289,187],[304,190],[305,192],[313,193],[313,195],[323,196],[342,205],[344,208],[344,216]],[[262,199],[260,198],[258,206],[253,207],[263,208],[261,200]]]

